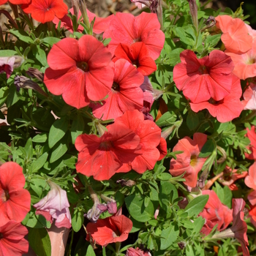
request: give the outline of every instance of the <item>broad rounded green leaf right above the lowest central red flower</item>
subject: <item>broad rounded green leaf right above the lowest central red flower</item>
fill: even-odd
[[[129,195],[125,199],[129,214],[138,222],[147,222],[154,218],[154,205],[151,201],[148,206],[144,206],[144,197],[140,195]]]

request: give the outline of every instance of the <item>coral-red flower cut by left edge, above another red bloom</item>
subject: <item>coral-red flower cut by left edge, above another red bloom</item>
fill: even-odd
[[[25,178],[22,167],[6,162],[0,167],[0,226],[11,219],[22,222],[30,211],[31,196],[23,189]]]

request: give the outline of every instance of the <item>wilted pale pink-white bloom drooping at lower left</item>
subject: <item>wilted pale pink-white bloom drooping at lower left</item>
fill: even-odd
[[[50,223],[56,219],[56,227],[71,227],[71,215],[69,212],[69,201],[67,192],[53,182],[49,182],[50,191],[38,203],[34,204],[37,208],[36,214],[41,214]]]

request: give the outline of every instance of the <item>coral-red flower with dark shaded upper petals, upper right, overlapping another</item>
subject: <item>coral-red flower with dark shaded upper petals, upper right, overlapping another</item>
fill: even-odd
[[[230,94],[234,65],[221,50],[197,59],[192,50],[181,53],[181,63],[173,69],[173,81],[192,103],[219,101]]]

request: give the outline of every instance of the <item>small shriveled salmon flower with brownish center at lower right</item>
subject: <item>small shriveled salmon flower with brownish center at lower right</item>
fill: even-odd
[[[237,181],[239,178],[244,178],[247,175],[248,173],[246,171],[238,173],[237,169],[232,170],[231,167],[226,166],[225,170],[223,170],[223,176],[219,178],[219,182],[224,186],[228,186],[230,190],[238,190],[235,181]]]

